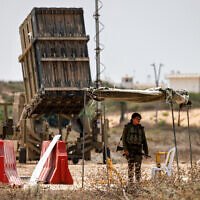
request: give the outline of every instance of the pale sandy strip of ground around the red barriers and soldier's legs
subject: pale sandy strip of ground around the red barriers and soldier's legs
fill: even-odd
[[[143,161],[142,164],[142,181],[151,180],[151,169],[154,167],[154,163],[150,163],[147,160]],[[22,178],[25,188],[29,187],[28,181],[30,176],[35,169],[36,164],[17,164],[17,170],[19,176]],[[41,184],[41,187],[44,189],[52,190],[78,190],[82,188],[82,162],[79,164],[73,165],[69,162],[69,170],[73,177],[73,185],[50,185],[50,184]],[[127,163],[114,164],[115,169],[118,171],[123,181],[127,183]],[[189,165],[179,164],[181,169],[187,169]],[[173,165],[174,172],[176,173],[176,163]],[[112,175],[113,181],[115,184],[119,184],[119,179],[116,174]],[[107,168],[105,164],[97,164],[92,161],[86,161],[84,165],[84,189],[93,190],[93,189],[104,189],[107,184],[102,184],[101,181],[107,181]],[[114,184],[111,184],[113,186]]]

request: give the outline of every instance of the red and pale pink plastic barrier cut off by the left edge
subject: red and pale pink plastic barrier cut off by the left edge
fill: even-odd
[[[0,182],[12,186],[23,186],[16,169],[13,141],[0,140]]]

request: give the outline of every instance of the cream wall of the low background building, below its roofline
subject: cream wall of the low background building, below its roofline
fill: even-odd
[[[185,89],[189,92],[200,92],[200,78],[168,78],[169,87],[175,90]]]

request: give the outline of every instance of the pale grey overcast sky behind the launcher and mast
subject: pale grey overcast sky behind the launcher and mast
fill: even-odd
[[[101,77],[120,82],[135,76],[139,82],[154,81],[153,68],[164,64],[161,79],[171,70],[200,73],[200,0],[101,0],[100,35],[104,50]],[[82,7],[90,67],[95,79],[95,0],[1,0],[0,80],[22,80],[19,25],[33,7]],[[103,70],[103,67],[102,67]]]

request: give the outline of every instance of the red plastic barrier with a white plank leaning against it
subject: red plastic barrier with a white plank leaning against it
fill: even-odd
[[[42,143],[41,157],[48,148],[50,141]],[[51,151],[38,179],[39,183],[73,184],[73,179],[68,168],[66,144],[58,141]]]

